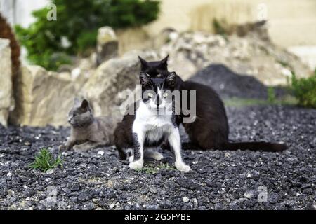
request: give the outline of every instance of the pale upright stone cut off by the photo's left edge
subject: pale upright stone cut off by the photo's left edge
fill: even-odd
[[[8,125],[8,114],[13,107],[10,41],[0,39],[0,124]]]

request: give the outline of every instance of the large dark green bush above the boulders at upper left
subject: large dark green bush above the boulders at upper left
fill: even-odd
[[[52,0],[57,6],[57,20],[48,21],[50,9],[33,12],[35,22],[27,28],[15,26],[15,32],[27,49],[27,58],[46,69],[58,69],[71,62],[65,55],[82,55],[96,45],[99,27],[114,29],[138,27],[157,19],[159,2],[150,0]],[[62,45],[67,38],[71,44]],[[52,58],[52,55],[62,57]]]

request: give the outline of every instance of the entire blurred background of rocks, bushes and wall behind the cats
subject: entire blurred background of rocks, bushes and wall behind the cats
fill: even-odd
[[[170,55],[226,105],[316,107],[314,0],[1,0],[0,13],[3,125],[66,125],[74,96],[117,116],[138,55]]]

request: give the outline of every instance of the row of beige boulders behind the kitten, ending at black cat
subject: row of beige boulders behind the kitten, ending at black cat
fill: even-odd
[[[98,69],[93,69],[88,59],[83,59],[71,72],[60,73],[46,71],[41,66],[22,66],[14,87],[16,104],[11,123],[67,125],[67,113],[76,96],[90,100],[97,116],[119,115],[119,105],[124,99],[119,99],[118,93],[129,88],[133,90],[138,80],[137,55],[157,59],[154,52],[134,52],[110,59]]]

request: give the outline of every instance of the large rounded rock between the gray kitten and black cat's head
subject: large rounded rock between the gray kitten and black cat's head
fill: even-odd
[[[154,51],[126,53],[104,62],[82,87],[79,95],[88,99],[94,113],[99,115],[121,116],[120,105],[126,100],[124,91],[133,90],[139,83],[140,62],[138,55],[147,60],[157,60]]]

